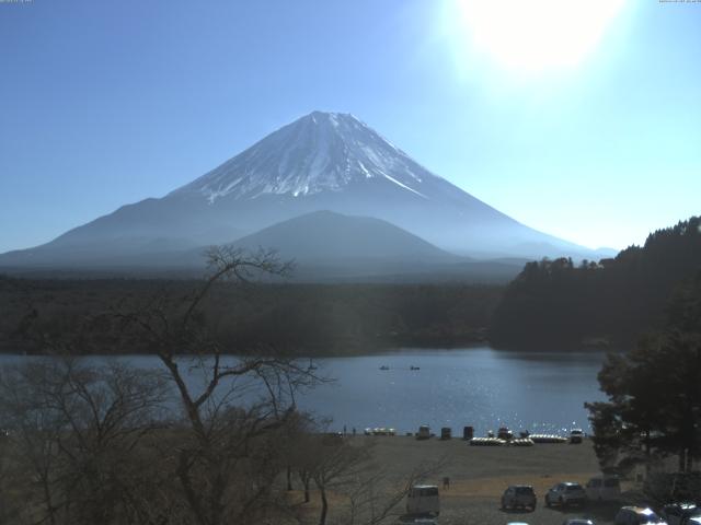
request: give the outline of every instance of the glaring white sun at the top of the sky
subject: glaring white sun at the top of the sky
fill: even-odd
[[[456,0],[455,24],[476,50],[525,72],[576,66],[625,0]]]

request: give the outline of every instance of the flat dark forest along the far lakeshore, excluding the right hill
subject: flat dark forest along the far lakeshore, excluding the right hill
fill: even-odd
[[[120,312],[182,304],[200,284],[183,280],[0,279],[0,350],[34,352],[42,338],[84,334],[84,353],[150,352],[125,337]],[[467,284],[221,283],[203,305],[225,351],[374,352],[397,346],[484,341],[504,288]],[[116,334],[115,330],[122,330]],[[74,339],[73,339],[74,341]],[[125,342],[126,341],[126,342]]]

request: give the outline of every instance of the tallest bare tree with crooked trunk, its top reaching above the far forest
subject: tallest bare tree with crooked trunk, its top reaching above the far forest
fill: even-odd
[[[290,264],[273,252],[230,247],[211,248],[208,261],[209,277],[188,298],[152,301],[119,318],[148,339],[179,393],[183,441],[169,459],[193,521],[219,525],[267,517],[280,506],[271,489],[287,462],[268,440],[294,419],[296,392],[318,378],[269,348],[226,357],[204,320],[203,306],[221,281],[286,276]]]

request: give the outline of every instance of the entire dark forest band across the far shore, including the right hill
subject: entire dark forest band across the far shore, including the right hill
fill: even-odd
[[[622,349],[664,325],[675,293],[699,290],[691,279],[701,276],[700,226],[701,219],[691,218],[652,233],[642,247],[598,262],[529,262],[506,288],[217,283],[202,305],[200,322],[229,353],[336,355],[487,339],[515,349]],[[152,352],[141,338],[125,334],[128,323],[115,319],[157,305],[166,322],[169,308],[176,312],[199,285],[195,280],[0,276],[0,351],[35,352],[46,348],[46,339],[80,334],[84,353]]]

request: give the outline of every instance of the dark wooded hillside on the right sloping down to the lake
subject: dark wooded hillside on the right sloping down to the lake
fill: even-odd
[[[698,217],[652,233],[643,247],[614,259],[529,262],[495,310],[490,339],[512,348],[625,348],[663,326],[673,295],[693,290],[700,269]]]

